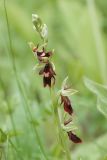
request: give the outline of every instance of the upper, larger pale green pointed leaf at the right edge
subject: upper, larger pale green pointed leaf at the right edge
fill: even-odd
[[[96,83],[88,78],[84,78],[85,86],[97,97],[107,103],[107,86]]]

